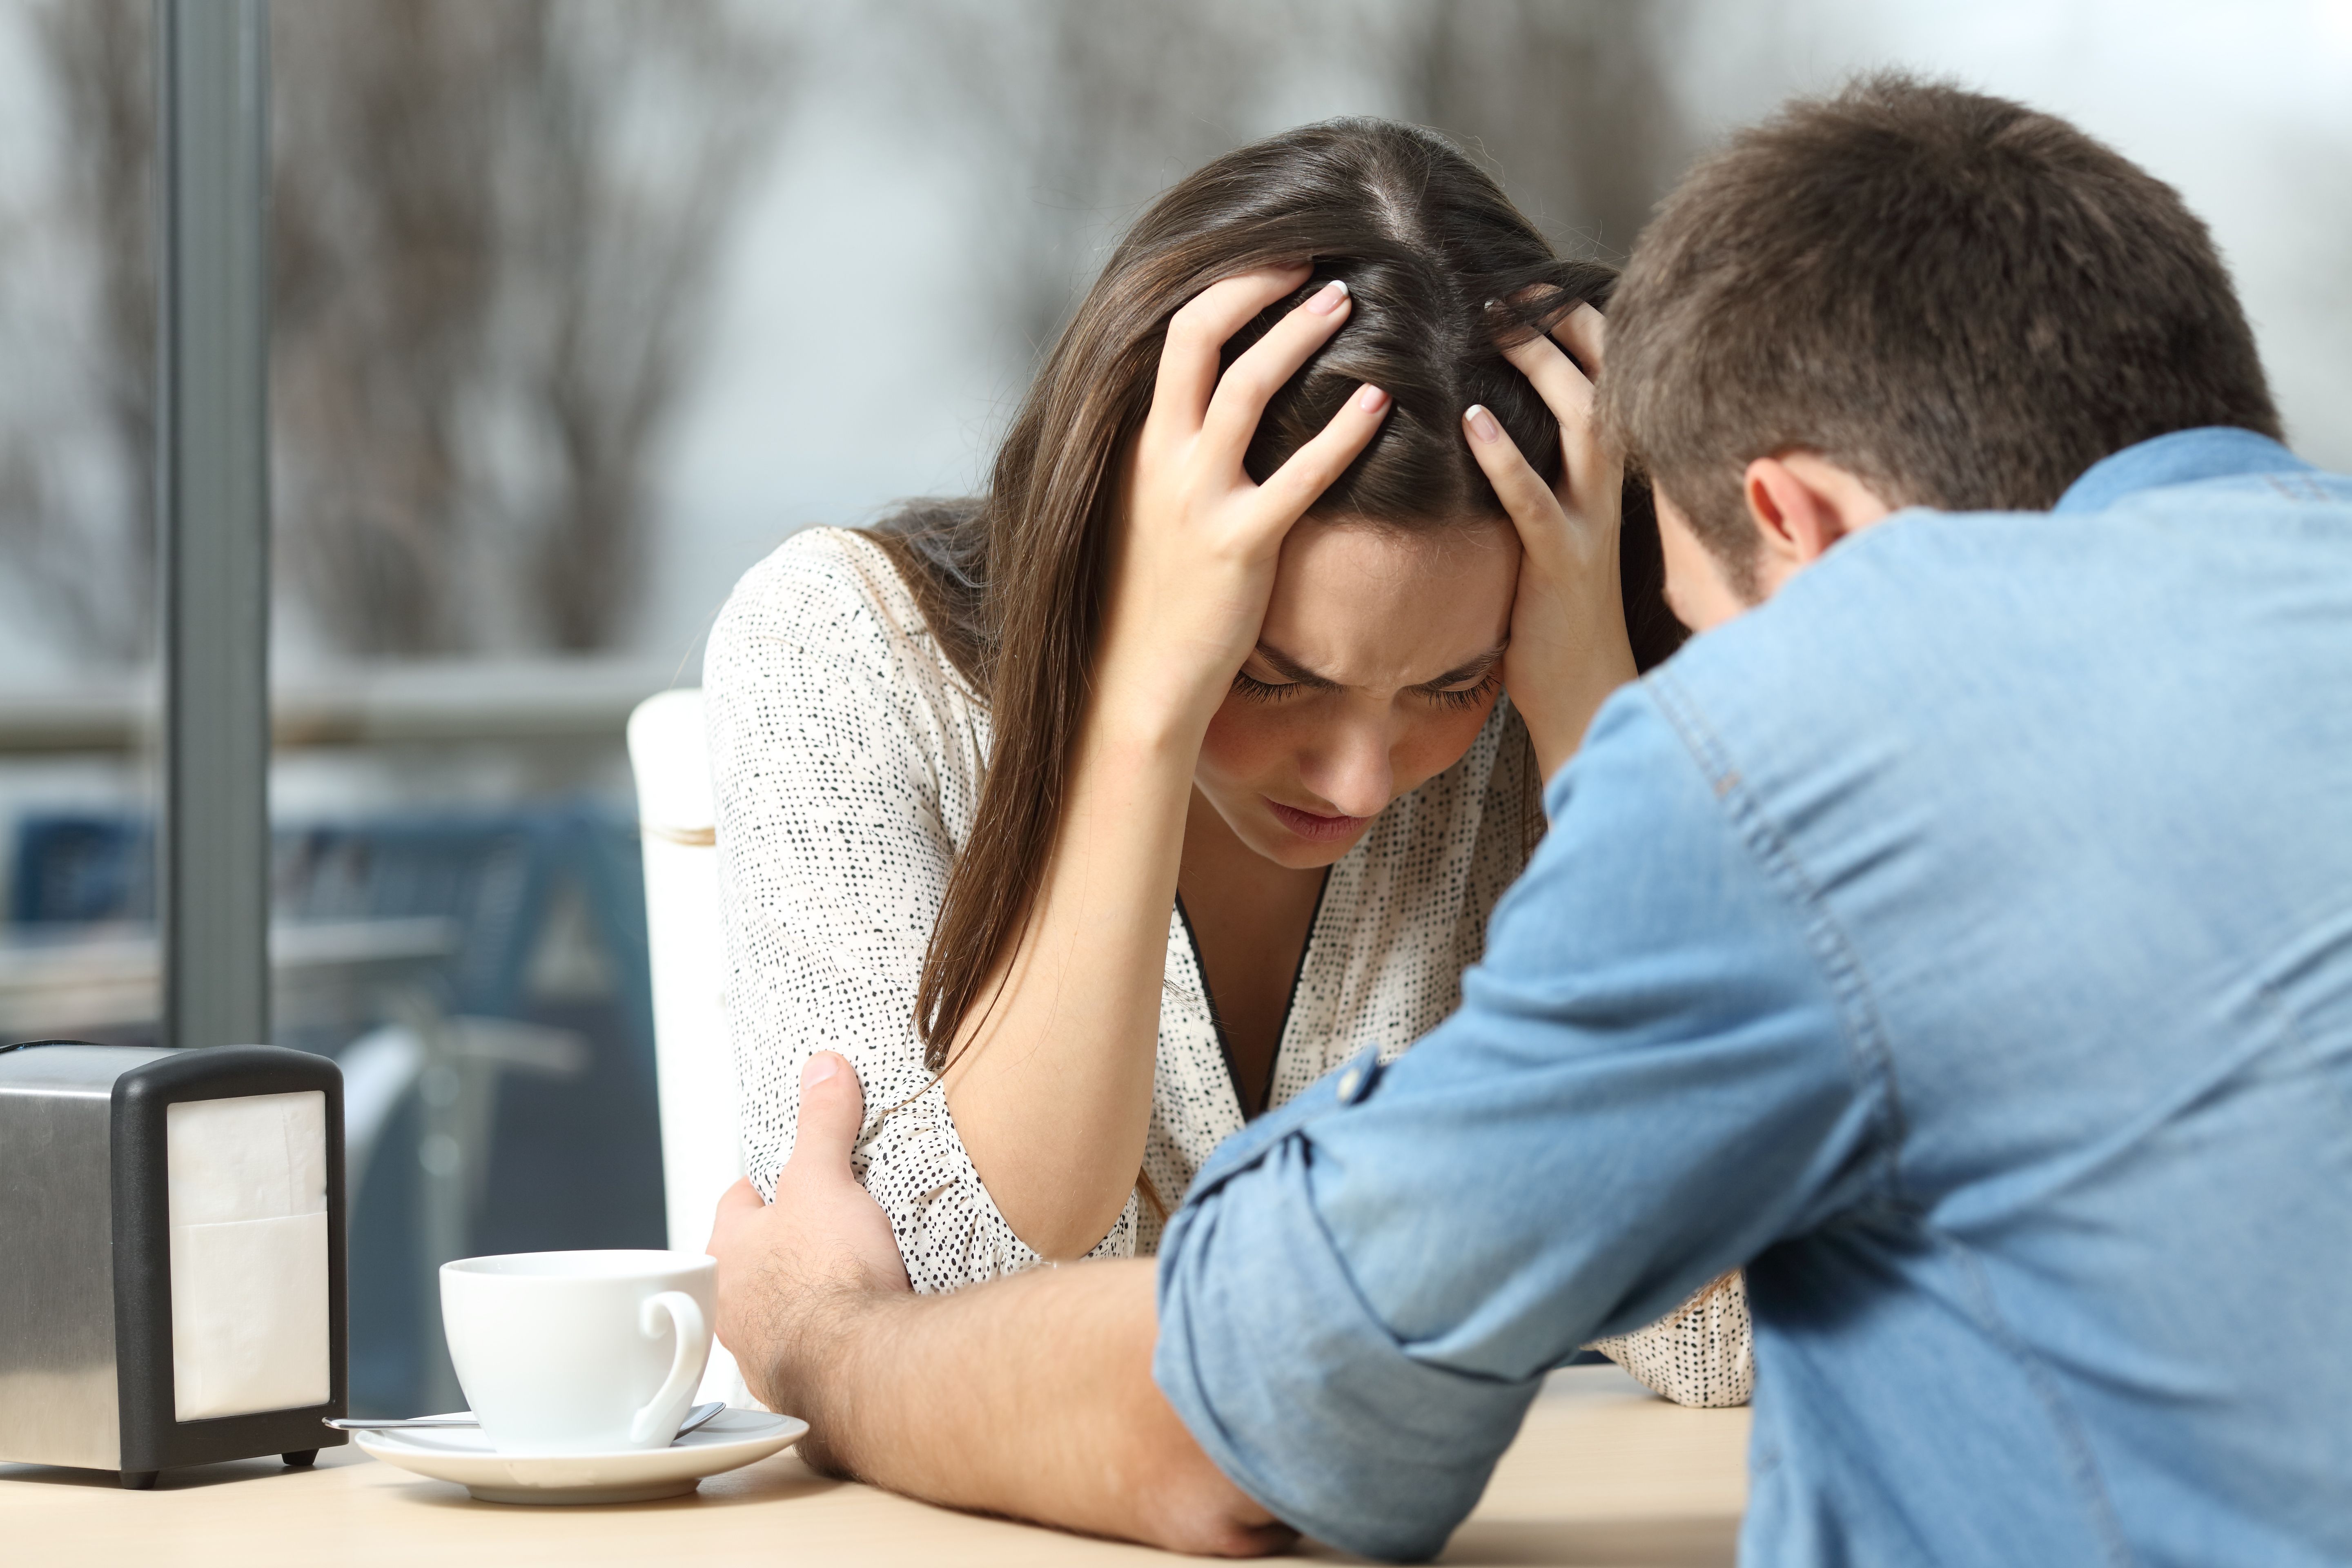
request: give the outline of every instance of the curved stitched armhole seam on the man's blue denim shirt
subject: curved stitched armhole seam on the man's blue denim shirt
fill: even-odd
[[[1804,912],[1806,947],[1811,947],[1820,978],[1837,999],[1839,1025],[1846,1034],[1849,1072],[1853,1072],[1856,1086],[1870,1093],[1875,1105],[1879,1197],[1882,1201],[1903,1206],[1903,1095],[1896,1086],[1893,1053],[1886,1046],[1884,1023],[1879,1020],[1877,999],[1870,992],[1870,976],[1863,971],[1860,954],[1853,952],[1853,943],[1846,940],[1837,917],[1830,914],[1820,889],[1806,875],[1804,863],[1790,849],[1778,823],[1764,811],[1764,802],[1748,788],[1740,769],[1731,762],[1729,748],[1724,748],[1715,726],[1708,724],[1696,698],[1691,698],[1668,668],[1651,670],[1642,677],[1642,684],[1649,686],[1658,712],[1665,715],[1665,722],[1691,752],[1691,762],[1705,776],[1710,792],[1729,818],[1733,839],[1757,860],[1764,879]]]

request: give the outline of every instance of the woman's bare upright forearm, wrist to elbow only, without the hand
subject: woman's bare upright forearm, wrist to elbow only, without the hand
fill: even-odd
[[[1122,708],[1105,696],[1103,708]],[[1131,703],[1082,733],[1037,907],[946,1081],[997,1213],[1044,1258],[1096,1246],[1143,1166],[1169,914],[1207,726],[1178,703],[1162,712],[1150,722]]]

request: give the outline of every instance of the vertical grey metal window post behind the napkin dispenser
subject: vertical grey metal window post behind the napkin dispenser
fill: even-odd
[[[155,0],[162,1039],[270,1037],[268,0]]]

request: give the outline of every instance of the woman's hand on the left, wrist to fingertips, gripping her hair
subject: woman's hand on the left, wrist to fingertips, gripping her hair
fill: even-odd
[[[1096,665],[1101,712],[1162,738],[1207,729],[1256,646],[1282,538],[1388,414],[1388,393],[1364,386],[1265,484],[1242,468],[1265,402],[1348,320],[1348,284],[1317,289],[1223,376],[1218,353],[1305,277],[1303,266],[1228,277],[1169,320],[1127,465]]]

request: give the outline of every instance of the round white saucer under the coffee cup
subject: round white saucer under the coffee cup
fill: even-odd
[[[767,1410],[720,1410],[668,1448],[616,1453],[499,1453],[480,1427],[353,1432],[369,1455],[482,1502],[649,1502],[691,1493],[703,1476],[790,1448],[809,1422]]]

